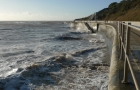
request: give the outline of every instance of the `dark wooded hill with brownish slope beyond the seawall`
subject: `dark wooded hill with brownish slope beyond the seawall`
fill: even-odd
[[[97,16],[97,17],[96,17]],[[76,20],[117,20],[117,21],[140,21],[140,0],[122,0],[113,2],[107,8],[90,16]]]

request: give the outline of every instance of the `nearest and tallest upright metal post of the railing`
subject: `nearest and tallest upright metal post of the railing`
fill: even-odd
[[[128,25],[131,25],[131,23],[128,23]],[[124,77],[122,83],[126,84],[128,83],[128,62],[126,55],[129,55],[129,49],[130,49],[130,27],[127,26],[126,30],[126,45],[125,45],[126,53],[125,53],[125,62],[124,62]]]

